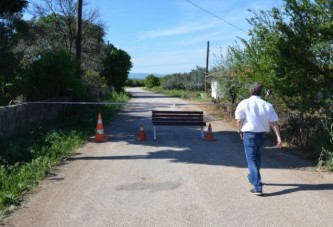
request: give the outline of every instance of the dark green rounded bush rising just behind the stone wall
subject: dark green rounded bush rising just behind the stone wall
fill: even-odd
[[[28,100],[78,95],[81,82],[75,76],[76,60],[65,51],[47,52],[33,62],[25,78]]]

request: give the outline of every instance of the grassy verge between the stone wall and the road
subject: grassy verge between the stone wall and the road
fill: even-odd
[[[125,102],[128,95],[111,94],[107,100]],[[56,166],[89,140],[94,134],[99,112],[103,121],[109,122],[120,108],[120,105],[74,105],[55,121],[1,139],[0,220]]]

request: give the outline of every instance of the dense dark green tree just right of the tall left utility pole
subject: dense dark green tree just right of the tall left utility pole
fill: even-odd
[[[131,57],[112,44],[108,45],[105,54],[101,75],[106,78],[109,86],[113,86],[117,92],[121,92],[132,68]]]

